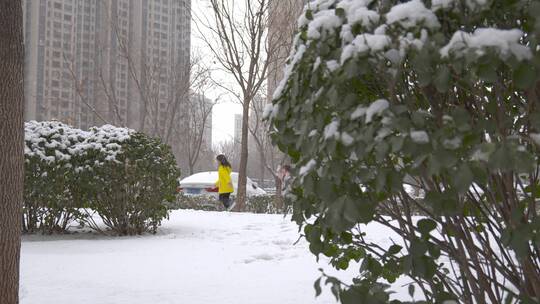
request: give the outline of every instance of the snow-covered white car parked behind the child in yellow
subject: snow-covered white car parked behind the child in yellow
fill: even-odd
[[[238,172],[231,173],[231,179],[233,182],[234,192],[233,196],[236,196],[238,190]],[[190,175],[180,181],[180,192],[186,195],[210,195],[218,197],[217,192],[209,191],[216,186],[218,180],[217,171],[199,172]],[[247,196],[266,195],[266,191],[261,189],[257,183],[253,182],[249,177],[246,183]]]

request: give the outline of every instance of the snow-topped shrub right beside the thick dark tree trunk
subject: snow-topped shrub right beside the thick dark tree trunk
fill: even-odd
[[[79,218],[81,202],[69,191],[73,176],[69,149],[85,136],[60,122],[25,123],[23,231],[63,231]]]

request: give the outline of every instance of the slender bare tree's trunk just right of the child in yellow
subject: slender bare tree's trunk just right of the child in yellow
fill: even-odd
[[[242,113],[242,141],[240,144],[240,168],[238,168],[238,192],[236,210],[244,210],[246,205],[247,160],[248,160],[248,124],[249,101],[244,101]]]

